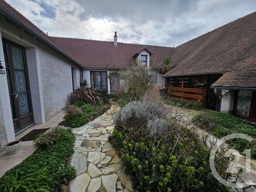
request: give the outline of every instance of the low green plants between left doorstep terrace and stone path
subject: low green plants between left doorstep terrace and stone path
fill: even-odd
[[[4,192],[52,192],[60,189],[60,184],[76,176],[74,167],[67,160],[74,153],[72,129],[53,128],[52,134],[40,134],[35,140],[39,146],[20,164],[8,170],[0,178],[0,191]],[[49,141],[46,139],[49,138]]]

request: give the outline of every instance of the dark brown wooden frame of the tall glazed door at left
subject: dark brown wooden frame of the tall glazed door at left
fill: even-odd
[[[10,69],[10,71],[12,71],[12,73],[10,73],[10,80],[11,80],[11,85],[12,85],[12,92],[13,92],[13,100],[14,102],[16,102],[16,104],[14,103],[14,110],[15,110],[15,115],[16,115],[16,119],[13,120],[13,122],[16,122],[16,121],[19,121],[18,123],[18,130],[17,132],[20,132],[22,129],[26,128],[27,126],[29,126],[30,124],[24,124],[22,126],[21,124],[21,120],[23,118],[26,118],[28,116],[31,116],[32,117],[32,122],[34,122],[34,113],[33,113],[33,107],[32,107],[32,98],[31,98],[31,90],[30,90],[30,83],[29,83],[29,76],[28,76],[28,64],[27,64],[27,60],[26,60],[26,49],[15,43],[15,42],[12,42],[6,38],[2,38],[3,41],[6,42],[6,52],[7,52],[7,58],[8,58],[8,68]],[[29,102],[29,108],[30,108],[30,112],[27,113],[27,114],[24,114],[21,116],[20,114],[20,110],[18,108],[18,100],[16,100],[15,98],[15,90],[16,90],[16,78],[15,78],[15,75],[14,75],[14,67],[13,67],[13,59],[12,59],[12,50],[10,48],[10,45],[14,45],[14,46],[17,46],[19,48],[22,48],[22,52],[23,52],[23,61],[24,61],[24,71],[25,71],[25,74],[26,74],[26,86],[27,86],[27,92],[28,92],[28,102]],[[15,133],[17,133],[15,132]]]

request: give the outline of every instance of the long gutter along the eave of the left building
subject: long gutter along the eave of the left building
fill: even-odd
[[[20,18],[18,18],[16,15],[14,15],[12,12],[10,12],[7,8],[5,8],[3,5],[0,5],[0,12],[6,16],[7,18],[10,18],[17,24],[19,24],[22,28],[26,29],[28,32],[32,33],[34,36],[40,38],[44,43],[50,45],[52,48],[54,48],[56,51],[60,52],[62,55],[64,55],[66,58],[83,68],[82,65],[80,65],[76,60],[71,58],[68,54],[66,54],[62,49],[60,49],[58,46],[56,46],[54,43],[52,43],[50,40],[42,36],[40,33],[38,33],[36,30],[34,30],[32,27],[30,27],[28,24],[26,24],[24,21],[22,21]]]

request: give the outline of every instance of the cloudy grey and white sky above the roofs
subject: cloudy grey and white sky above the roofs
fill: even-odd
[[[7,0],[50,36],[178,46],[256,11],[256,0]]]

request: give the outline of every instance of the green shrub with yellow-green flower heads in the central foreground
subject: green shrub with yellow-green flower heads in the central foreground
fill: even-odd
[[[181,128],[157,140],[146,133],[115,128],[110,138],[138,191],[228,191],[210,172],[210,152],[192,130]],[[217,170],[222,167],[228,164],[216,164]],[[225,172],[221,175],[228,177]]]

